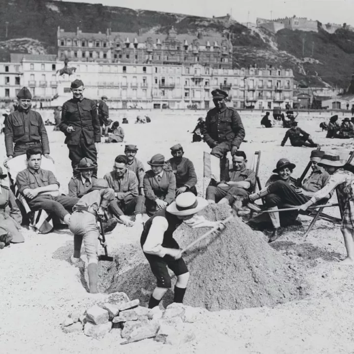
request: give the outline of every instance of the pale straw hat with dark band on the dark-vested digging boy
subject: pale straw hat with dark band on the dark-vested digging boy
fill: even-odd
[[[177,216],[188,216],[196,214],[208,205],[206,199],[196,197],[191,192],[181,193],[176,201],[171,203],[166,211]]]

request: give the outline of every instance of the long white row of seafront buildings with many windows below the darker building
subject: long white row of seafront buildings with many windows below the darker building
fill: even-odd
[[[56,56],[11,55],[11,62],[0,63],[0,98],[14,99],[27,86],[34,100],[61,104],[71,97],[71,81],[81,79],[86,97],[105,94],[112,108],[207,109],[213,107],[211,91],[217,88],[229,93],[228,105],[235,108],[293,104],[291,69],[77,61],[70,64],[76,67],[73,75],[59,77],[56,71],[62,66]]]

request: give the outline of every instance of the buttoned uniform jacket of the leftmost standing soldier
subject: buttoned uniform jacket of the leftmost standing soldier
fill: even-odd
[[[13,155],[15,145],[26,143],[41,143],[43,154],[49,154],[49,141],[47,130],[41,115],[29,109],[16,111],[8,115],[5,123],[5,147],[6,155]]]

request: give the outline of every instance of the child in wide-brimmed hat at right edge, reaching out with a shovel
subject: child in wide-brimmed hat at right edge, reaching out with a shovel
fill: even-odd
[[[340,204],[343,219],[341,231],[344,236],[344,243],[347,249],[347,258],[342,264],[354,264],[354,168],[351,163],[347,163],[339,155],[324,154],[320,166],[329,173],[328,183],[315,193],[312,198],[299,207],[300,210],[306,210],[308,207],[316,204],[319,200],[325,198],[335,188],[338,191],[338,202]]]

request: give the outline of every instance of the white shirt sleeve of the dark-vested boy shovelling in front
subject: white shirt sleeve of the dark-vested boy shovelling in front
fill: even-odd
[[[165,248],[162,247],[163,236],[168,229],[167,219],[163,216],[156,216],[152,220],[148,236],[143,245],[143,251],[159,257],[166,255]]]

